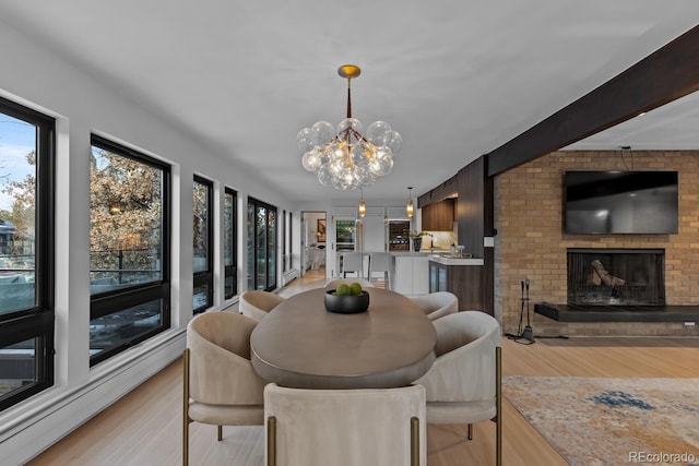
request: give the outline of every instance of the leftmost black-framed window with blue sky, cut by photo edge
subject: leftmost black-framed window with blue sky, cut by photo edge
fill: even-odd
[[[0,409],[54,384],[54,133],[0,98]]]

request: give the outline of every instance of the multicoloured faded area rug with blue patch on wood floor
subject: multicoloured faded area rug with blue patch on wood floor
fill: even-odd
[[[699,379],[512,375],[502,394],[572,466],[699,465]]]

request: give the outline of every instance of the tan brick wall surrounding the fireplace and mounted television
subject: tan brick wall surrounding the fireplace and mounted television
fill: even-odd
[[[678,235],[566,235],[566,170],[677,170]],[[516,333],[521,280],[531,280],[533,303],[567,301],[568,248],[665,250],[667,304],[699,304],[699,151],[555,152],[495,179],[495,313]],[[682,323],[559,323],[536,315],[535,334],[697,335]]]

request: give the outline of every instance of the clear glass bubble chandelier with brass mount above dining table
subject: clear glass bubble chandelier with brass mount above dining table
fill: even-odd
[[[347,118],[337,129],[327,121],[304,128],[296,135],[301,165],[315,171],[321,184],[339,190],[355,190],[374,184],[378,177],[393,168],[393,156],[403,146],[403,139],[384,121],[375,121],[365,134],[359,120],[352,118],[350,83],[362,70],[343,64],[337,74],[347,79]]]

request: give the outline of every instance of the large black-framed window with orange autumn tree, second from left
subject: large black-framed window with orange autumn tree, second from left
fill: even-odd
[[[92,136],[90,365],[170,326],[169,167]]]

